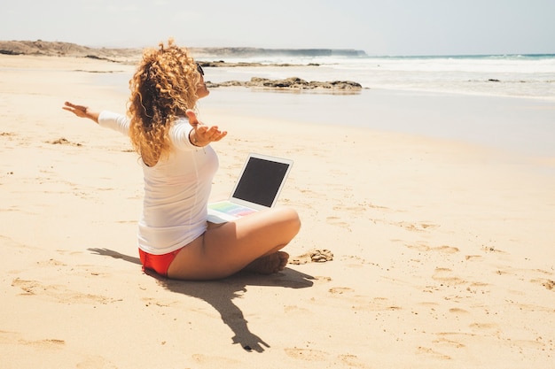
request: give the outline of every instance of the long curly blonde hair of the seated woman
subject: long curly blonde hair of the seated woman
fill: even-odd
[[[199,96],[200,74],[184,48],[168,40],[160,49],[146,49],[129,81],[129,135],[133,148],[146,165],[156,165],[171,148],[168,132],[187,109],[194,109]]]

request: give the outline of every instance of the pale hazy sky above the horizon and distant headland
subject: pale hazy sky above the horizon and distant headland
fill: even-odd
[[[555,0],[13,0],[0,40],[90,47],[555,54]]]

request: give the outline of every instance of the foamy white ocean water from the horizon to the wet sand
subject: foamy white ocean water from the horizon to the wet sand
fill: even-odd
[[[219,60],[214,56],[214,60]],[[222,58],[226,62],[314,65],[266,68],[272,79],[356,81],[363,88],[447,92],[482,96],[519,96],[555,102],[555,54],[439,57],[288,56]],[[261,68],[262,69],[262,68]],[[259,71],[237,71],[242,81]],[[234,73],[215,78],[230,78]],[[259,73],[260,74],[260,73]],[[219,82],[219,81],[215,81]]]

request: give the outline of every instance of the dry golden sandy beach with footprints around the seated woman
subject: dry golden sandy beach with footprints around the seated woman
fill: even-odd
[[[301,263],[168,281],[139,265],[128,140],[61,109],[124,111],[126,86],[94,81],[133,69],[0,55],[0,368],[553,367],[552,157],[202,103],[229,131],[213,197],[248,152],[294,160]]]

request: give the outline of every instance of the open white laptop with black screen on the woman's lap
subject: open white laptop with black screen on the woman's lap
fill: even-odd
[[[212,223],[224,223],[274,206],[293,160],[251,153],[246,158],[231,197],[208,204]]]

